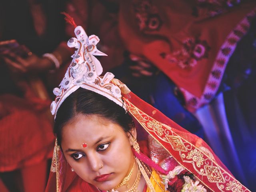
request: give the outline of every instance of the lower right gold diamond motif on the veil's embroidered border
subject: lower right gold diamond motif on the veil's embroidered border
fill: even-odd
[[[204,170],[210,182],[225,183],[225,179],[219,167],[205,165]]]

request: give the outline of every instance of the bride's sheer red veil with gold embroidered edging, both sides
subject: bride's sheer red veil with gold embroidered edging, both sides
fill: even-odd
[[[122,91],[127,111],[134,118],[138,140],[152,138],[169,156],[172,156],[177,164],[194,174],[200,183],[211,191],[230,192],[234,191],[234,188],[239,192],[250,191],[234,178],[201,138],[191,134],[156,108],[138,98],[119,80],[113,79],[111,83],[117,85]],[[59,146],[56,145],[46,191],[91,192],[99,190],[71,171]]]

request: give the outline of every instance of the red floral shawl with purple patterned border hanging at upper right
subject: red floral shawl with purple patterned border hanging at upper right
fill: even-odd
[[[252,0],[122,1],[119,31],[126,49],[164,72],[195,112],[216,95],[255,15]]]

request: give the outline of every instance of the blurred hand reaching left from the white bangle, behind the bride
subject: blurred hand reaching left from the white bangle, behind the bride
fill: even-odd
[[[8,52],[2,57],[14,73],[45,72],[55,67],[54,63],[48,58],[38,57],[31,52],[26,58],[22,58],[14,52]]]

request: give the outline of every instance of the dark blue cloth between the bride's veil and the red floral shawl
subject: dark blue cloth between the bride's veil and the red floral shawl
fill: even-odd
[[[124,82],[132,92],[160,110],[168,118],[186,130],[204,138],[202,125],[192,113],[184,108],[182,98],[178,98],[175,94],[174,82],[162,72],[150,77],[133,77],[129,72],[129,62],[132,61],[125,60],[122,66],[112,70],[113,74],[118,74],[116,78]],[[180,94],[180,96],[182,95]]]

